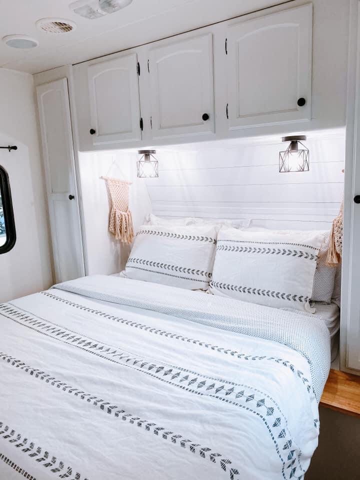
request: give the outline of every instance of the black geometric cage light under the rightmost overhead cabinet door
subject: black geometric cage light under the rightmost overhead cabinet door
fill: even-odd
[[[279,155],[279,172],[309,171],[309,151],[301,140],[306,140],[305,135],[292,135],[282,137],[282,141],[289,141],[289,145]]]

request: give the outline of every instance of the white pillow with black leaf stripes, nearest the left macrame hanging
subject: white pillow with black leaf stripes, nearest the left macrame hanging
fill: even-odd
[[[214,226],[143,225],[125,266],[125,276],[187,289],[207,289],[217,232]]]

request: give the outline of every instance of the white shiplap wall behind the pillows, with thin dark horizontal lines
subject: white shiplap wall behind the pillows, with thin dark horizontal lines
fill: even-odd
[[[146,179],[161,217],[251,219],[252,226],[327,229],[343,194],[345,132],[312,133],[310,171],[279,173],[276,139],[158,149],[159,178]]]

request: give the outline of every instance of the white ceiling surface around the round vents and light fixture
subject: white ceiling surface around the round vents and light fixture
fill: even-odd
[[[88,20],[73,13],[73,0],[0,0],[0,38],[26,34],[39,46],[16,50],[0,40],[0,66],[36,73],[67,63],[157,40],[286,0],[133,0],[116,13]],[[37,29],[36,20],[60,17],[77,28],[52,34]]]

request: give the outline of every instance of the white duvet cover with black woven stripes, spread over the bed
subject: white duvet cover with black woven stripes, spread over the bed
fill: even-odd
[[[304,477],[320,318],[111,276],[0,305],[0,479]]]

